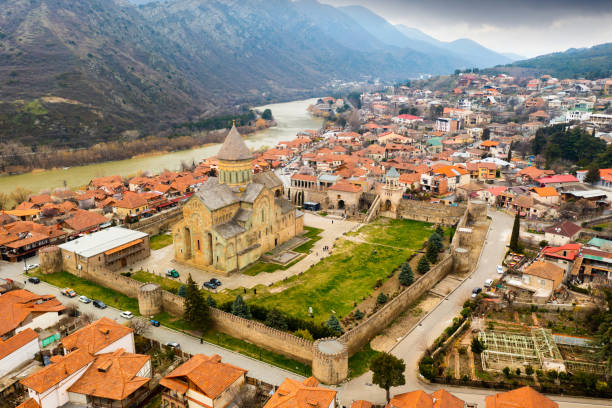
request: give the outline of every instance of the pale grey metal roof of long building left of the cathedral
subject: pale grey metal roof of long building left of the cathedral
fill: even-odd
[[[86,258],[104,253],[110,249],[142,239],[149,234],[121,227],[111,227],[85,235],[59,247]]]

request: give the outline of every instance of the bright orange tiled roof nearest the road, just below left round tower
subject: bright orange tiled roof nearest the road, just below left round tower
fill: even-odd
[[[123,326],[108,317],[103,317],[80,330],[62,339],[66,350],[75,348],[87,350],[96,354],[120,338],[133,332],[129,327]]]

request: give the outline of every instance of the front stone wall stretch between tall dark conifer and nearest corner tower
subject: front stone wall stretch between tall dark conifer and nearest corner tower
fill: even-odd
[[[217,330],[302,363],[312,364],[312,341],[219,309],[210,311],[211,319]]]

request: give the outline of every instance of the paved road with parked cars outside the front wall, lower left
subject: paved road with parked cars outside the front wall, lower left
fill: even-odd
[[[30,258],[28,263],[38,263],[38,258]],[[25,275],[23,275],[23,264],[0,262],[0,277],[11,278],[15,281],[23,283],[23,281],[26,279]],[[45,282],[41,282],[37,285],[27,283],[25,289],[38,294],[55,295],[63,304],[74,304],[82,313],[93,315],[96,319],[108,317],[118,321],[119,323],[124,323],[126,321],[119,316],[119,313],[121,312],[120,310],[112,307],[101,310],[93,307],[91,304],[80,303],[76,300],[76,298],[68,299],[60,294],[61,288],[56,288],[55,286],[49,285]],[[84,293],[84,295],[87,295],[87,293]],[[249,376],[258,378],[270,384],[280,385],[280,383],[287,377],[303,379],[303,377],[289,371],[249,358],[247,356],[243,356],[242,354],[226,350],[214,344],[200,344],[199,339],[168,329],[166,327],[151,327],[147,337],[162,343],[177,342],[181,345],[181,349],[190,354],[219,354],[223,358],[223,361],[245,368],[249,371]]]

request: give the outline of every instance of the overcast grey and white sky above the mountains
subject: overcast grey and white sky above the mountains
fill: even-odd
[[[612,41],[612,0],[320,0],[362,5],[439,40],[527,57]]]

